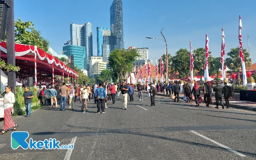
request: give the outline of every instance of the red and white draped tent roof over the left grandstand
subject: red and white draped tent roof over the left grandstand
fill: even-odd
[[[1,58],[7,59],[6,42],[0,41]],[[26,44],[15,44],[15,59],[16,65],[21,69],[29,69],[35,67],[35,55],[37,70],[46,73],[52,73],[52,65],[54,66],[55,75],[78,76],[75,70],[67,67],[62,61],[59,61],[54,56],[44,52],[37,46],[31,46]]]

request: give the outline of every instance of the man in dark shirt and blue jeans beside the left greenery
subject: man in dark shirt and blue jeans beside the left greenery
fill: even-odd
[[[33,92],[29,90],[29,87],[25,87],[25,92],[23,92],[21,103],[25,99],[26,117],[30,116],[31,114],[31,104],[32,104],[33,97],[34,97]]]

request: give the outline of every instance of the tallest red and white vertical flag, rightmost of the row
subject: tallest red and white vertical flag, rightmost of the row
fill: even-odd
[[[247,76],[246,76],[246,70],[245,70],[245,63],[244,63],[244,53],[243,53],[243,45],[242,45],[242,21],[241,21],[241,15],[239,15],[239,57],[242,61],[242,73],[243,73],[243,81],[244,86],[247,84]]]

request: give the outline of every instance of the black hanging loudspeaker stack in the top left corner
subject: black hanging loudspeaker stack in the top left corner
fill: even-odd
[[[0,0],[0,40],[5,40],[6,35],[6,23],[7,23],[7,11],[10,6],[6,1]]]

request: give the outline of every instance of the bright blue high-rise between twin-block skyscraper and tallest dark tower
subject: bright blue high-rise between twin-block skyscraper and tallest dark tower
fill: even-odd
[[[103,36],[110,36],[110,28],[97,27],[97,55],[102,56]]]

